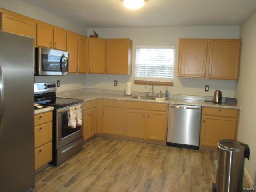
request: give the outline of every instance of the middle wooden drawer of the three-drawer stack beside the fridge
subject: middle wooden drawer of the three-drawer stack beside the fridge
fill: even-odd
[[[35,148],[52,141],[52,122],[35,127]]]

